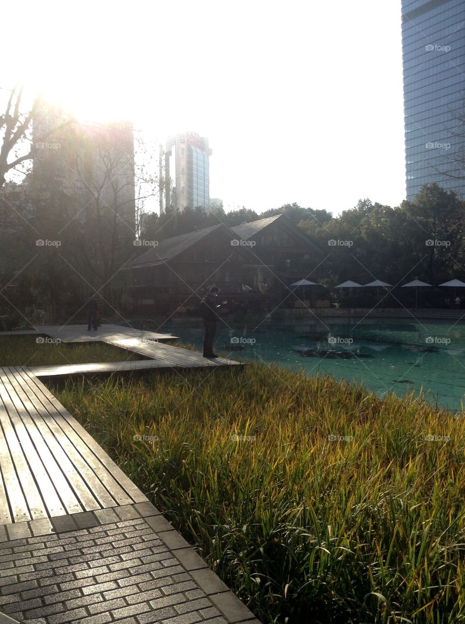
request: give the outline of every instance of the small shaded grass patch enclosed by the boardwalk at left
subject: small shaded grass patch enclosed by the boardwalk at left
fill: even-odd
[[[43,336],[0,336],[0,366],[52,366],[143,359],[103,343],[55,343]]]

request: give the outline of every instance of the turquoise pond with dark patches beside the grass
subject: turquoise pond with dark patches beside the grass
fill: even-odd
[[[363,383],[379,396],[423,389],[425,400],[454,412],[465,405],[463,322],[344,318],[226,323],[218,324],[214,344],[231,351],[231,358],[304,369],[309,375],[328,373]],[[172,331],[202,349],[200,320],[173,321],[160,331]]]

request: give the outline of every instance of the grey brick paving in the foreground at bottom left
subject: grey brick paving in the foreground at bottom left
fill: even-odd
[[[0,611],[15,620],[259,624],[150,503],[0,529]]]

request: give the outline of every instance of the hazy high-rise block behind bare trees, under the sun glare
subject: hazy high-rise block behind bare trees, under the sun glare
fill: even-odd
[[[122,288],[137,239],[132,124],[80,123],[44,105],[32,135],[29,188],[42,238],[59,237],[80,288]]]

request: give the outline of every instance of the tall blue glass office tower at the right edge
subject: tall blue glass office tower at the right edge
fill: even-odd
[[[402,0],[402,46],[407,198],[430,182],[465,198],[464,0]]]

